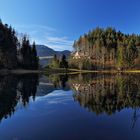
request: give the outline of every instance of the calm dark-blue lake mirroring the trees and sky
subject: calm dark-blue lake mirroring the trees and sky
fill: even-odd
[[[0,76],[0,140],[139,140],[139,74]]]

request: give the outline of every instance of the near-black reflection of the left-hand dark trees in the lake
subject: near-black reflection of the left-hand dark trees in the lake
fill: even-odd
[[[10,117],[20,102],[27,106],[30,97],[35,100],[38,75],[7,75],[0,77],[0,121]]]

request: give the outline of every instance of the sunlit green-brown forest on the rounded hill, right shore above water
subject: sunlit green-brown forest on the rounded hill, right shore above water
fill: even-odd
[[[96,28],[73,44],[70,64],[78,69],[131,69],[140,67],[140,35],[113,28]]]

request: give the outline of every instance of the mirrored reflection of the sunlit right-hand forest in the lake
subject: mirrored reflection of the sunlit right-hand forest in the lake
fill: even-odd
[[[139,75],[78,75],[69,82],[74,99],[97,115],[140,107]],[[86,80],[87,79],[87,80]]]

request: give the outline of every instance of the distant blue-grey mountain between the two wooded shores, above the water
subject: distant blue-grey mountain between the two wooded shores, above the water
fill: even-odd
[[[60,58],[62,55],[65,55],[67,58],[70,56],[70,51],[64,50],[64,51],[55,51],[45,45],[36,45],[37,49],[37,55],[41,57],[53,57],[55,54]],[[47,66],[51,62],[52,58],[41,58],[39,61],[40,65],[43,67]]]

